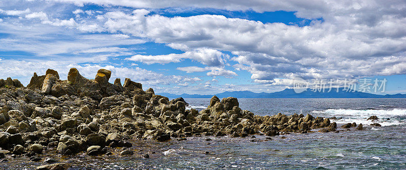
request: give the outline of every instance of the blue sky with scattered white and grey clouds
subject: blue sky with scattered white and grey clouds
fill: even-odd
[[[2,0],[0,78],[105,68],[173,94],[385,78],[371,93],[404,94],[405,27],[406,1]]]

